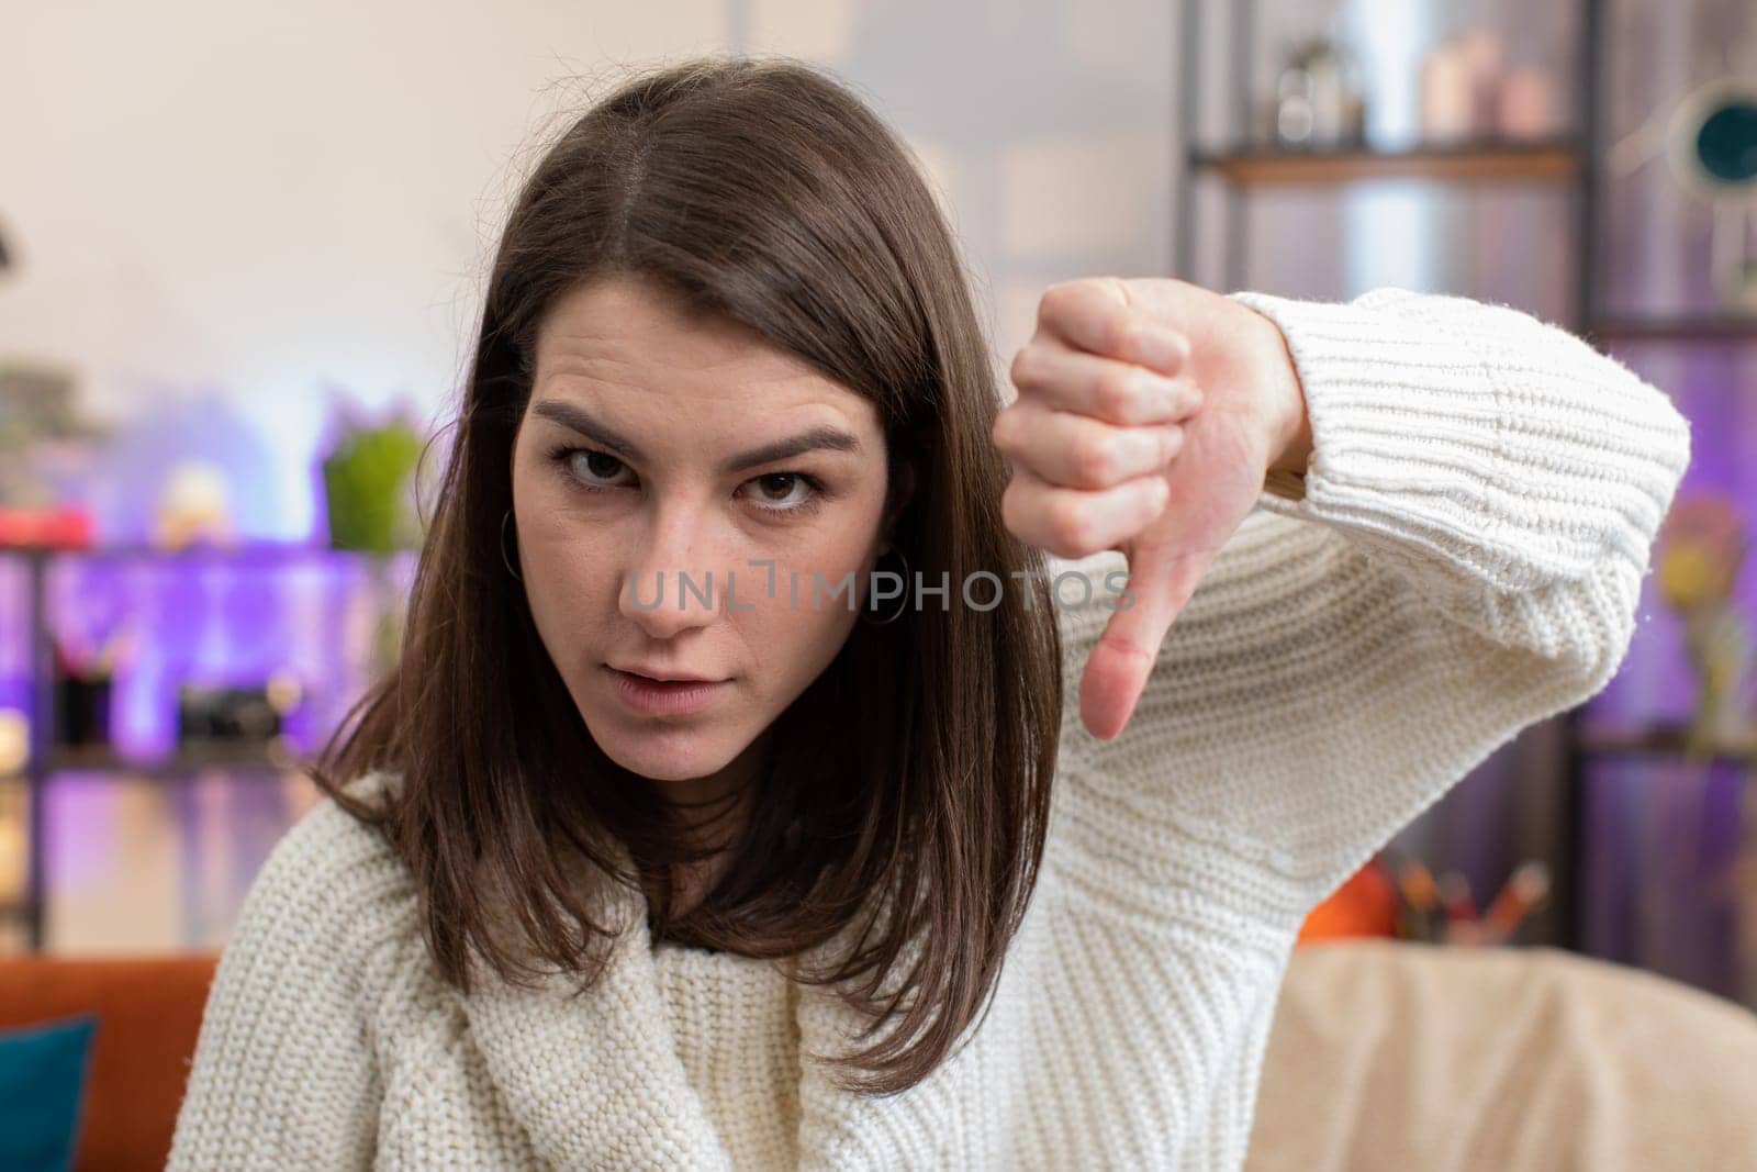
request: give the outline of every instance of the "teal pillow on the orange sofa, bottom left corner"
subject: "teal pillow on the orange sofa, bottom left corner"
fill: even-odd
[[[0,1168],[74,1167],[93,1014],[0,1030]]]

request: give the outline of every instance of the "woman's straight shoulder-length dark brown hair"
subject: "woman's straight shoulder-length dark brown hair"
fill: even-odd
[[[701,857],[659,787],[592,742],[501,552],[538,325],[606,274],[655,278],[866,395],[893,473],[914,478],[893,543],[926,585],[949,575],[949,604],[856,624],[777,719],[773,768],[715,887],[678,919],[669,898],[655,910],[655,933],[759,958],[861,928],[833,972],[796,979],[859,979],[838,995],[873,1019],[866,1037],[900,1019],[842,1065],[868,1075],[843,1077],[849,1089],[905,1089],[987,1002],[1037,882],[1061,647],[1042,555],[1001,522],[1007,466],[989,439],[1001,404],[954,239],[901,141],[815,67],[698,58],[648,72],[573,121],[525,179],[399,666],[315,775],[406,859],[432,956],[464,991],[471,949],[503,979],[536,973],[495,937],[483,891],[513,893],[529,951],[590,984],[589,945],[611,930],[573,882],[580,859],[638,882],[601,835],[643,873]],[[993,610],[961,601],[977,571],[1007,585]],[[993,590],[972,592],[987,604]],[[346,792],[367,771],[399,778],[383,803]],[[889,900],[882,922],[873,893]],[[905,954],[901,986],[880,995]]]

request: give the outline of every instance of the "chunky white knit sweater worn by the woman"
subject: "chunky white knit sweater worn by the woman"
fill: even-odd
[[[1112,742],[1075,699],[1109,610],[1063,608],[1047,859],[956,1058],[893,1098],[838,1093],[799,1063],[859,1024],[828,991],[654,949],[640,915],[583,1000],[460,998],[406,870],[323,801],[220,961],[170,1168],[1237,1168],[1305,912],[1606,684],[1690,436],[1504,306],[1233,297],[1288,337],[1304,496],[1265,490]]]

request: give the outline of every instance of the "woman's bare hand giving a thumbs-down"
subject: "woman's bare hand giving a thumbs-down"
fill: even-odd
[[[1109,740],[1263,476],[1305,469],[1305,395],[1270,318],[1170,278],[1052,285],[1012,381],[993,432],[1007,529],[1058,557],[1128,559],[1081,676],[1081,719]]]

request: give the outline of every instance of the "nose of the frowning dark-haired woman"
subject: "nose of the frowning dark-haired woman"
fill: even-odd
[[[622,617],[654,640],[710,626],[726,606],[733,566],[715,529],[717,517],[706,501],[676,497],[654,504],[617,583]]]

